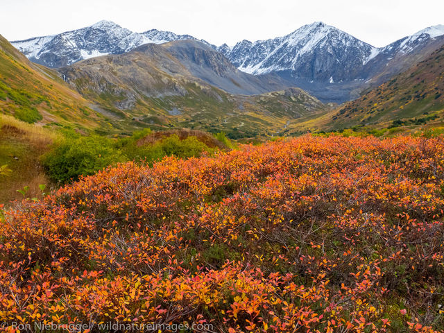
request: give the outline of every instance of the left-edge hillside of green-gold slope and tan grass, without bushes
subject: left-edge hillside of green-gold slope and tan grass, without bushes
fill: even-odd
[[[40,157],[59,135],[43,126],[83,132],[106,124],[56,72],[29,62],[0,36],[0,167],[12,170],[0,176],[0,203],[19,199],[25,186],[38,196],[38,185],[49,184]]]

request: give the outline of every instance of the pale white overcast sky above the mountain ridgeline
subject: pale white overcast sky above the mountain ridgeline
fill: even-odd
[[[0,34],[23,40],[107,19],[131,31],[157,28],[232,45],[322,21],[385,46],[444,24],[443,13],[443,0],[0,0]]]

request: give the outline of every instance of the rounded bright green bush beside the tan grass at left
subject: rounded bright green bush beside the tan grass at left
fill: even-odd
[[[48,176],[60,184],[78,180],[108,167],[126,161],[126,156],[107,137],[68,136],[46,154],[43,165]]]

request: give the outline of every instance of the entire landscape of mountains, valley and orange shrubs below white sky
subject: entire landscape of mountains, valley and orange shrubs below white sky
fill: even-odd
[[[444,26],[54,33],[0,36],[0,332],[444,332]]]

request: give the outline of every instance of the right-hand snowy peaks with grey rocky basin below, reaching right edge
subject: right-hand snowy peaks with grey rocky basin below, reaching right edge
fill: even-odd
[[[243,71],[275,73],[321,101],[342,103],[424,60],[444,44],[443,35],[444,26],[434,26],[378,49],[315,22],[284,37],[224,44],[219,51]]]

